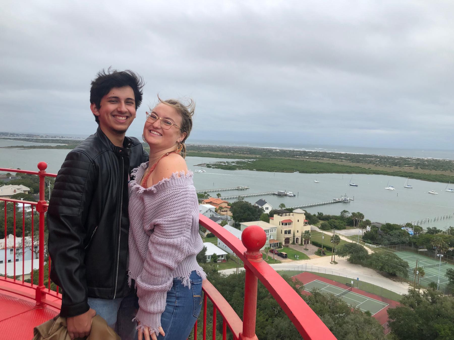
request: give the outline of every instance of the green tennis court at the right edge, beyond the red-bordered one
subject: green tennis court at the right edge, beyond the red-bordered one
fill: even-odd
[[[438,269],[440,269],[440,285],[445,285],[447,282],[449,282],[448,278],[446,277],[446,271],[448,269],[454,268],[452,264],[442,261],[440,266],[440,262],[438,261],[432,260],[431,258],[424,255],[418,255],[407,251],[395,252],[395,254],[402,260],[408,262],[408,265],[410,266],[410,277],[412,277],[413,270],[416,267],[416,260],[418,260],[418,267],[424,267],[425,275],[424,277],[419,278],[420,284],[427,286],[430,282],[438,282]]]

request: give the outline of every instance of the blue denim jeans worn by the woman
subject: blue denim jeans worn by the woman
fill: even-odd
[[[158,340],[186,340],[202,309],[202,277],[191,273],[191,288],[183,286],[181,280],[173,279],[167,293],[166,309],[161,315],[161,326],[165,336]]]

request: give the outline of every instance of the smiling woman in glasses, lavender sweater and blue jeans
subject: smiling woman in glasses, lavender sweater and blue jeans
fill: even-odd
[[[143,127],[149,162],[129,182],[129,278],[139,298],[138,339],[185,340],[205,278],[196,261],[203,248],[197,194],[184,160],[194,105],[158,99]]]

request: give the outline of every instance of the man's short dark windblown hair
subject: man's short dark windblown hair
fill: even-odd
[[[96,75],[96,79],[91,82],[90,103],[95,104],[99,109],[101,99],[109,93],[114,87],[130,86],[134,91],[136,101],[136,110],[142,103],[143,79],[137,73],[131,70],[117,71],[111,70],[110,67],[105,71],[102,69]],[[98,116],[94,116],[95,121],[99,124]]]

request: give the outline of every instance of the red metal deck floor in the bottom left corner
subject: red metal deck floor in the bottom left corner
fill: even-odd
[[[31,340],[33,327],[58,313],[49,306],[36,306],[32,299],[0,291],[0,340]]]

